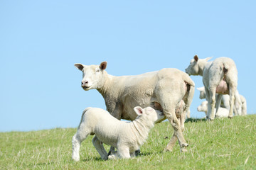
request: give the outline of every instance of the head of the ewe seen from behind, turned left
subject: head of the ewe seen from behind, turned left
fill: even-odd
[[[203,67],[207,63],[208,60],[210,60],[212,57],[208,57],[206,59],[199,59],[197,55],[193,57],[191,60],[188,68],[185,69],[186,73],[188,75],[203,75]]]

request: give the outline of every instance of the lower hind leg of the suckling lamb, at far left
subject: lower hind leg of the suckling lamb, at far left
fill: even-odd
[[[89,135],[86,130],[84,132],[80,132],[80,129],[78,129],[78,132],[75,133],[75,135],[72,138],[72,159],[76,162],[80,160],[79,150],[81,142],[86,139],[86,137]]]

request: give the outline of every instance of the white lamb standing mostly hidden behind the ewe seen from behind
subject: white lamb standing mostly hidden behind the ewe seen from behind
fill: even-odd
[[[199,87],[197,89],[198,89],[198,91],[200,91],[199,98],[201,98],[201,99],[206,98],[206,90],[205,90],[204,86]],[[218,96],[218,94],[216,94],[216,96]],[[228,94],[224,94],[223,97],[221,98],[220,106],[222,108],[227,108],[229,110],[230,109],[229,100],[230,100],[230,96]],[[242,111],[239,111],[239,109],[242,109]],[[234,113],[235,113],[235,115],[247,115],[247,104],[246,104],[245,97],[240,95],[238,93],[238,90],[235,91]]]

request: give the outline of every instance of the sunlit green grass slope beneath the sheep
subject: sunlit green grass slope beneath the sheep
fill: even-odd
[[[256,115],[190,119],[185,128],[186,153],[178,144],[173,152],[162,152],[173,133],[164,122],[151,130],[139,157],[103,161],[90,136],[82,142],[80,162],[71,161],[76,129],[1,132],[0,169],[256,169]]]

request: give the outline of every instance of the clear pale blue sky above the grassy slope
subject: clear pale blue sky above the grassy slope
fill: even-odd
[[[0,131],[76,128],[84,108],[105,108],[83,91],[75,63],[107,61],[112,75],[166,67],[194,55],[230,57],[247,112],[256,113],[255,1],[0,1]],[[196,87],[201,77],[191,77]],[[196,91],[191,116],[203,101]]]

